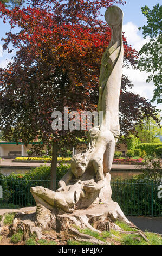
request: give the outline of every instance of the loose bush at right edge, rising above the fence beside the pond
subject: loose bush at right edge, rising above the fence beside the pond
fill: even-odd
[[[139,175],[141,179],[150,179],[154,182],[162,181],[162,169],[160,161],[154,157],[147,157],[141,167],[142,174]]]

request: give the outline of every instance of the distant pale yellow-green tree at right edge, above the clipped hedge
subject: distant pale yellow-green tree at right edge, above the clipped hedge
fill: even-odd
[[[141,125],[136,125],[135,130],[141,143],[160,143],[158,136],[162,135],[162,127],[152,118],[144,118]]]

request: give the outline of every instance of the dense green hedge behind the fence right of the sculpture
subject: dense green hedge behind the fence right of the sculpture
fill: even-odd
[[[161,216],[161,199],[158,198],[160,181],[152,182],[148,178],[112,179],[112,200],[118,202],[125,215]]]

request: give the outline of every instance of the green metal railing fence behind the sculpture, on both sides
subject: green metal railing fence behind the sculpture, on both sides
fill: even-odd
[[[3,188],[0,209],[4,202],[16,207],[35,206],[30,187],[49,188],[49,184],[49,180],[0,179]],[[112,178],[112,200],[118,202],[125,215],[162,216],[162,199],[158,198],[159,185],[147,180]]]

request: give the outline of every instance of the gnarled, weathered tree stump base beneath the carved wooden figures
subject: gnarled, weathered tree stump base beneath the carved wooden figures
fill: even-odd
[[[41,208],[41,216],[39,215]],[[43,208],[43,210],[42,210]],[[56,212],[57,210],[57,212]],[[43,215],[42,215],[43,212]],[[57,233],[70,230],[72,227],[81,229],[88,228],[92,231],[101,233],[110,229],[122,230],[115,224],[116,220],[125,222],[131,227],[135,225],[128,221],[120,209],[118,203],[110,201],[109,203],[98,204],[87,209],[74,210],[73,213],[58,212],[58,209],[49,210],[44,206],[37,206],[34,213],[21,212],[15,215],[12,226],[10,227],[9,236],[23,230],[23,239],[27,240],[33,233],[38,239],[44,238],[42,231],[53,229]]]

